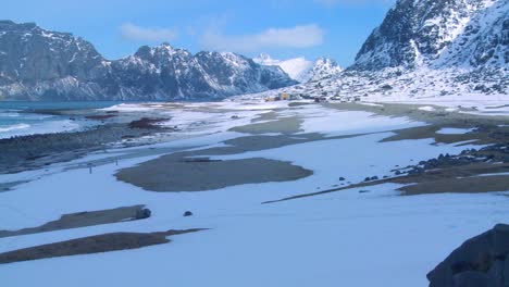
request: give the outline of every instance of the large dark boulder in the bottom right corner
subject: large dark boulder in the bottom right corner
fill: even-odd
[[[509,225],[467,240],[427,274],[430,287],[509,286]]]

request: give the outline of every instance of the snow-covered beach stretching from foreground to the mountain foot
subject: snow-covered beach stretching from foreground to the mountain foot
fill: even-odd
[[[492,161],[483,159],[474,171],[462,165],[444,167],[455,159],[439,155],[483,152],[506,140],[489,135],[504,135],[507,127],[504,117],[419,108],[309,102],[109,108],[101,112],[149,112],[170,118],[158,125],[177,128],[166,130],[171,136],[154,144],[111,145],[80,159],[0,175],[0,183],[15,183],[0,192],[2,229],[37,227],[64,214],[139,204],[151,215],[3,237],[0,258],[5,252],[15,258],[23,248],[104,234],[208,229],[172,235],[171,242],[137,249],[0,264],[0,277],[9,286],[38,282],[52,286],[426,286],[426,273],[452,249],[509,215],[505,196],[509,186],[504,188],[509,183],[504,173],[507,162],[497,158],[504,150],[496,150]],[[472,154],[476,153],[465,157],[481,157]],[[263,161],[253,162],[246,183],[222,177],[236,174],[232,169],[252,159]],[[426,172],[431,159],[438,159],[435,171],[449,174],[435,174],[440,178],[426,174],[420,176],[423,183],[414,180],[412,169],[424,166]],[[160,182],[158,174],[171,179],[176,174],[172,161],[178,180],[170,180],[166,192],[142,183]],[[312,173],[290,178],[272,171],[269,182],[249,182],[266,176],[264,169],[271,169],[264,164],[272,163]],[[215,177],[194,176],[208,165],[216,169]],[[132,174],[119,177],[123,171]],[[477,192],[458,192],[452,179],[465,176],[497,177],[501,188],[484,190],[479,185]],[[450,192],[401,196],[407,192],[401,188],[429,184],[433,189],[433,180],[444,177],[450,177]],[[203,185],[195,191],[179,190],[186,182]],[[218,183],[221,187],[208,187]],[[183,216],[186,211],[193,216]]]

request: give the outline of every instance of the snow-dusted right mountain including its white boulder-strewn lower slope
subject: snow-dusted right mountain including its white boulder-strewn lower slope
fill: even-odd
[[[351,66],[264,95],[282,91],[377,101],[489,96],[509,102],[509,1],[398,0]]]

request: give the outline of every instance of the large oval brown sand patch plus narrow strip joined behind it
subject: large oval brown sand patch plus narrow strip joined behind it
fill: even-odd
[[[117,179],[151,191],[204,191],[234,185],[288,182],[307,177],[312,171],[268,159],[209,162],[193,161],[194,158],[238,154],[310,142],[314,140],[348,138],[339,136],[325,138],[320,134],[259,135],[238,137],[224,141],[227,147],[176,152],[124,169],[115,174]],[[200,180],[196,180],[199,178]]]

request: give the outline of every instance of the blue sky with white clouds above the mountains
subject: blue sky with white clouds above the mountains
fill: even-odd
[[[163,41],[191,52],[332,57],[350,64],[395,0],[7,0],[0,17],[91,41],[105,58]]]

